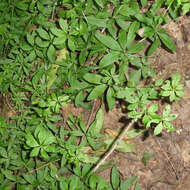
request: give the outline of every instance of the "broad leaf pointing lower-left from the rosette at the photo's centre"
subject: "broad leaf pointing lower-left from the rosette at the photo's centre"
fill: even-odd
[[[90,101],[90,100],[94,100],[100,96],[103,95],[104,91],[106,90],[107,88],[107,85],[105,84],[101,84],[101,85],[98,85],[96,86],[91,92],[90,94],[88,95],[88,98],[87,100]]]

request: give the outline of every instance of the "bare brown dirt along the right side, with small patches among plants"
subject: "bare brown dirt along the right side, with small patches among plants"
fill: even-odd
[[[183,76],[185,97],[172,104],[172,111],[178,114],[173,122],[175,132],[163,132],[159,137],[149,134],[133,139],[137,154],[114,151],[109,159],[116,159],[119,172],[123,179],[138,176],[141,190],[190,190],[190,17],[182,17],[178,22],[164,26],[176,42],[177,52],[170,53],[160,48],[156,58],[151,61],[158,76],[168,78],[172,73],[179,72]],[[189,47],[188,47],[189,46]],[[69,106],[66,112],[74,115],[82,113],[83,119],[94,117],[100,103],[95,102],[93,111],[85,111]],[[65,113],[66,114],[66,113]],[[64,115],[65,115],[64,114]],[[118,129],[123,127],[120,106],[105,114],[105,128]],[[145,166],[141,159],[144,152],[154,155]],[[99,174],[109,179],[111,166]]]

